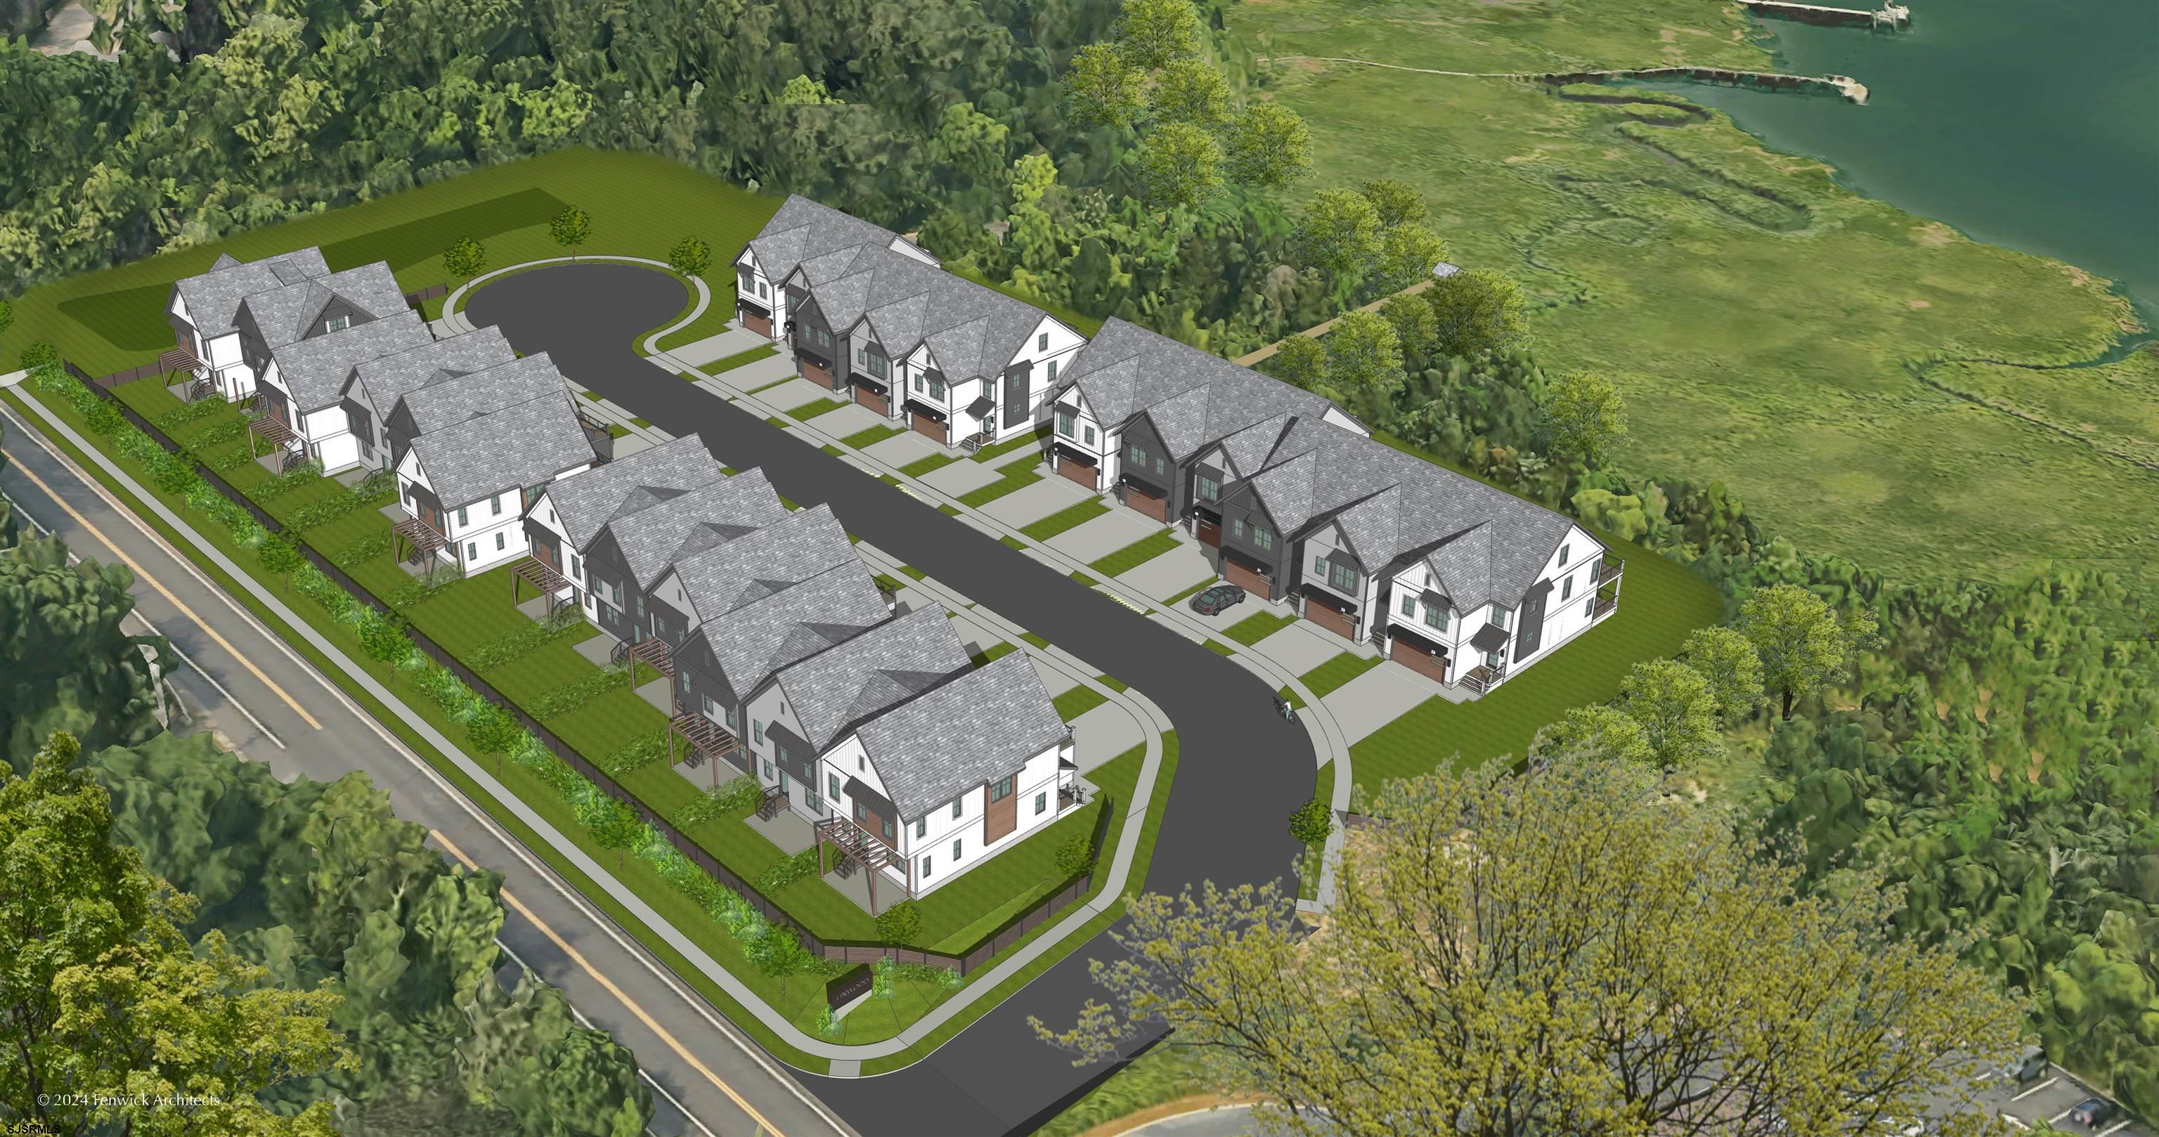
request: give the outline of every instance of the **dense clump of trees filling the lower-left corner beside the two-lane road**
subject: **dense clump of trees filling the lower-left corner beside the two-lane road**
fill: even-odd
[[[17,539],[0,498],[0,1126],[179,1133],[39,1085],[222,1094],[194,1133],[622,1137],[637,1064],[529,971],[501,876],[464,872],[365,775],[279,781],[168,734],[130,636],[132,574]],[[108,921],[67,898],[97,898]],[[121,960],[121,962],[117,962]],[[147,1046],[164,1036],[171,1046]]]

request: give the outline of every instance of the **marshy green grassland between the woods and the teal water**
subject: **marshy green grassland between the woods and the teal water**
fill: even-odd
[[[1682,0],[1274,0],[1228,19],[1267,56],[1453,71],[1770,63],[1736,6]],[[2159,472],[2099,438],[2122,414],[2066,410],[2105,403],[2103,375],[1915,373],[1932,356],[2092,358],[2131,319],[2103,280],[1855,196],[1699,108],[1315,58],[1276,73],[1274,97],[1313,129],[1317,177],[1300,192],[1416,186],[1453,261],[1503,270],[1544,304],[1548,369],[1621,384],[1624,466],[1721,479],[1801,548],[1904,574],[2006,576],[2148,526]]]

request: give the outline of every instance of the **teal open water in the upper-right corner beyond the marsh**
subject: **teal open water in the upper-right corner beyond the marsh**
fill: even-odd
[[[1909,30],[1762,19],[1779,69],[1852,76],[1868,106],[1658,84],[1855,192],[1973,239],[2060,257],[2159,313],[2159,4],[1900,0]],[[1846,0],[1846,6],[1868,6]]]

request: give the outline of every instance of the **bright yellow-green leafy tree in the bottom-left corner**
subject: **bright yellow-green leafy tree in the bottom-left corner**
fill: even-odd
[[[332,1137],[330,1102],[279,1118],[255,1094],[350,1068],[330,990],[266,988],[222,932],[181,928],[194,898],[112,839],[110,796],[54,734],[28,777],[0,770],[0,1115],[39,1133]],[[101,1094],[104,1100],[76,1100]],[[207,1098],[175,1109],[160,1098]]]

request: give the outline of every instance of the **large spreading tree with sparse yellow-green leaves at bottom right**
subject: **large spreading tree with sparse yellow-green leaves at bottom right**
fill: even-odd
[[[1891,939],[1896,889],[1803,889],[1641,766],[1444,766],[1369,813],[1317,928],[1278,882],[1133,898],[1108,1001],[1036,1036],[1097,1061],[1174,1029],[1302,1135],[1829,1137],[1963,1100],[2023,1029],[1969,936]]]

